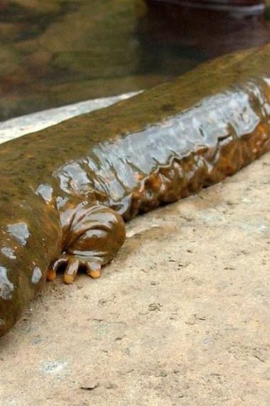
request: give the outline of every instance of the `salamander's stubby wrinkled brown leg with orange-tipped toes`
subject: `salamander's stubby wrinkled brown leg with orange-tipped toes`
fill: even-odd
[[[108,207],[88,204],[80,204],[70,218],[70,224],[63,229],[63,254],[47,278],[55,279],[59,268],[64,268],[65,283],[72,283],[79,269],[99,278],[102,266],[112,261],[124,243],[124,221]]]

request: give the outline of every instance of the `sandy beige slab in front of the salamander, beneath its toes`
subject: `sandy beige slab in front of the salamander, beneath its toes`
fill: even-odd
[[[0,340],[0,405],[268,406],[270,154],[137,217]]]

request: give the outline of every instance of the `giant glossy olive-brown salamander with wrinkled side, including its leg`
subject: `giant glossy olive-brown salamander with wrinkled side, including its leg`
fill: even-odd
[[[0,148],[0,335],[63,267],[92,278],[124,222],[270,150],[270,45]]]

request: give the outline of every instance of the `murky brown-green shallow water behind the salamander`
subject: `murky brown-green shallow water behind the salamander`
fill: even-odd
[[[270,41],[269,17],[149,4],[0,1],[0,120],[148,88]]]

